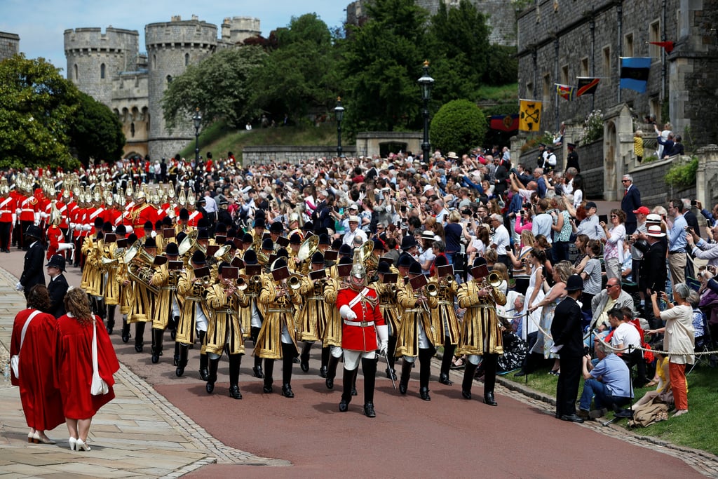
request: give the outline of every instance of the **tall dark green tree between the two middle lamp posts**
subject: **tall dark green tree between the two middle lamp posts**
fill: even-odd
[[[414,0],[375,0],[367,9],[367,22],[347,33],[341,67],[347,127],[418,129],[421,93],[416,80],[426,60],[426,11]]]

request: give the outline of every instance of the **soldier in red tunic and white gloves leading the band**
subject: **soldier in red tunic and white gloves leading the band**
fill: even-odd
[[[376,417],[376,350],[386,354],[388,330],[379,309],[376,290],[366,287],[366,271],[360,264],[352,267],[349,287],[340,289],[337,294],[337,308],[342,317],[344,350],[344,384],[339,410],[345,412],[349,409],[353,378],[361,359],[364,372],[364,414],[366,417]]]

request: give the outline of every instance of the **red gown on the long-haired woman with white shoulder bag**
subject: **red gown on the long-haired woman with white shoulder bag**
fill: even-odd
[[[89,419],[115,398],[113,374],[120,368],[110,336],[99,316],[97,322],[97,356],[100,376],[110,391],[103,396],[90,394],[92,384],[93,325],[80,325],[69,315],[57,319],[57,373],[55,382],[62,390],[62,409],[70,419]]]

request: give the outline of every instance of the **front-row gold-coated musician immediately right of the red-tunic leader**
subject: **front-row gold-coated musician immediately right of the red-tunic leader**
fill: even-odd
[[[421,265],[414,261],[409,266],[409,278],[421,274]],[[424,294],[423,291],[414,291],[411,283],[407,283],[396,292],[396,301],[404,308],[401,313],[398,334],[396,338],[396,357],[404,356],[401,364],[401,378],[399,379],[399,392],[406,394],[409,386],[411,368],[419,357],[419,397],[424,401],[431,401],[429,396],[429,377],[432,374],[432,356],[436,353],[437,328],[432,322],[429,310],[436,309],[437,298]]]

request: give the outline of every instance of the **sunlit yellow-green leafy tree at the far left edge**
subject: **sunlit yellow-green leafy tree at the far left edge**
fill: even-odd
[[[43,58],[0,62],[0,168],[71,168],[68,133],[78,90]]]

